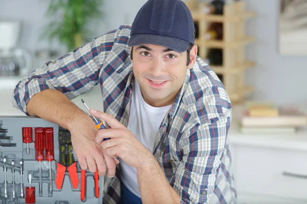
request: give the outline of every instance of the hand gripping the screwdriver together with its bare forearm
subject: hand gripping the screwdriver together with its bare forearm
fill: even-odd
[[[159,163],[136,136],[112,115],[97,110],[91,110],[91,113],[111,126],[99,130],[95,141],[108,156],[120,157],[137,169],[142,202],[180,203],[178,193],[169,185]],[[110,139],[103,141],[104,138]]]

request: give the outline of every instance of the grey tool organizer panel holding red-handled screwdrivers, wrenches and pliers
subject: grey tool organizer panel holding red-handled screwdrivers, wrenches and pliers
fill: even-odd
[[[0,204],[100,204],[102,195],[103,177],[81,173],[68,130],[38,117],[0,116]]]

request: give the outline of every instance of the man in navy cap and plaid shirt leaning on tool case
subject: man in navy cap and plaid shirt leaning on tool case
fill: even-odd
[[[70,130],[82,169],[107,167],[104,203],[234,203],[231,104],[197,52],[186,5],[149,0],[132,27],[21,80],[14,104]],[[100,131],[70,100],[98,83],[105,113],[91,112],[108,125]]]

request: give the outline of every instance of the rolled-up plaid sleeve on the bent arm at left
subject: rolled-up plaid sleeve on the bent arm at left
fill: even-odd
[[[26,75],[14,89],[13,106],[27,114],[31,97],[46,89],[56,89],[72,99],[99,83],[99,72],[112,49],[117,30],[95,38],[59,59],[47,62]]]

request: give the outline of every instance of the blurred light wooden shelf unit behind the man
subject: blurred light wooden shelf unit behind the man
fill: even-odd
[[[225,4],[223,15],[205,14],[203,9],[206,4],[197,0],[185,3],[191,10],[194,22],[198,24],[199,37],[195,39],[195,44],[198,45],[199,56],[205,60],[209,48],[222,49],[223,65],[209,65],[216,74],[222,76],[231,102],[244,102],[247,94],[254,90],[246,85],[245,73],[247,69],[255,66],[255,62],[246,59],[246,46],[253,43],[255,38],[246,36],[245,24],[248,19],[256,16],[255,12],[247,11],[243,0]],[[206,40],[205,34],[211,22],[223,23],[223,40]]]

